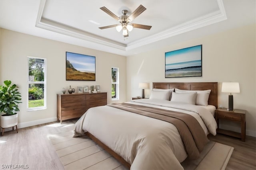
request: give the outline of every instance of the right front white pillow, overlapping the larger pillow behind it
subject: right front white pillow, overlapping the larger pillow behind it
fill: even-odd
[[[172,92],[172,102],[183,102],[186,104],[196,104],[196,92],[191,93],[176,93]]]

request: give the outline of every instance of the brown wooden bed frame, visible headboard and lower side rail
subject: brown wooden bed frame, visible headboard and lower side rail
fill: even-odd
[[[168,82],[153,82],[153,88],[161,88],[161,89],[171,89],[178,88],[182,90],[211,90],[208,104],[215,106],[218,108],[218,82],[193,82],[193,83],[168,83]],[[116,158],[119,162],[121,162],[124,166],[130,169],[130,163],[126,162],[124,158],[122,158],[119,154],[114,152],[104,143],[102,143],[99,139],[94,137],[91,133],[85,133],[88,137],[90,137],[95,143],[97,143],[100,147],[105,149],[109,154],[111,154],[114,158]]]

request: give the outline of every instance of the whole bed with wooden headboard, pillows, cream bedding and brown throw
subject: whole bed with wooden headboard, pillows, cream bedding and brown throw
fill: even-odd
[[[130,169],[183,169],[180,162],[196,159],[216,135],[217,106],[217,82],[153,82],[149,99],[88,109],[74,137],[88,135]]]

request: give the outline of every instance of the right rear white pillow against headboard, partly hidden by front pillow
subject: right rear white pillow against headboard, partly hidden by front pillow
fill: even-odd
[[[189,93],[189,92],[196,92],[196,105],[201,106],[208,106],[208,99],[211,90],[180,90],[178,88],[175,88],[176,93]]]

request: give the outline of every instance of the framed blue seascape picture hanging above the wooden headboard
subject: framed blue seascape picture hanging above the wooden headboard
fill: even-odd
[[[202,76],[202,45],[165,53],[165,78]]]

